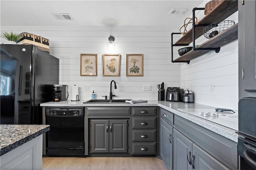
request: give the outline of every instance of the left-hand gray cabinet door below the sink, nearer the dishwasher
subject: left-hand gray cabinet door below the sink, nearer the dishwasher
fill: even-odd
[[[108,131],[108,120],[90,120],[90,153],[109,152]]]

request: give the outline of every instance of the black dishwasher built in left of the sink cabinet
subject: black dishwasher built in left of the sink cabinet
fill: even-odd
[[[84,157],[84,109],[46,108],[46,156]]]

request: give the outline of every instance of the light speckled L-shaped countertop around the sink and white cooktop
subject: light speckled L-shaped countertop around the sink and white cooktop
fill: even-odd
[[[174,113],[175,115],[178,115],[180,117],[183,117],[184,119],[187,119],[197,125],[200,125],[204,128],[207,128],[208,130],[211,130],[213,132],[216,132],[217,134],[220,134],[230,140],[233,140],[235,142],[238,142],[238,134],[235,132],[238,130],[238,117],[232,118],[237,122],[236,127],[237,128],[229,128],[228,126],[223,124],[214,123],[212,121],[208,121],[206,119],[203,119],[201,117],[197,117],[194,115],[191,115],[189,113],[185,113],[182,111],[178,111],[177,109],[215,109],[217,107],[210,107],[207,105],[200,105],[197,103],[183,103],[183,102],[172,102],[172,101],[153,101],[150,100],[148,103],[136,103],[136,104],[130,104],[130,103],[83,103],[84,101],[60,101],[60,102],[47,102],[47,103],[41,103],[41,107],[138,107],[138,106],[158,106],[162,109],[165,109],[167,111],[170,111]]]

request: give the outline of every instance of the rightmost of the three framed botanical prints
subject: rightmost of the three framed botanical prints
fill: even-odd
[[[126,54],[126,76],[143,76],[143,54]]]

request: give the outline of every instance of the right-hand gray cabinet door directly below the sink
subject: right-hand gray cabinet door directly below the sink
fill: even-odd
[[[127,152],[127,121],[109,121],[109,152]]]

